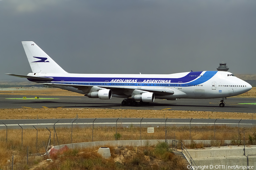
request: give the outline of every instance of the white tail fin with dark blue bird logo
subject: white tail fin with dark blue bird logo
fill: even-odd
[[[22,41],[33,73],[67,73],[33,41]]]

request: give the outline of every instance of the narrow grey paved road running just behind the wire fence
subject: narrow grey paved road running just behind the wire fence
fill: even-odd
[[[55,124],[55,127],[71,127],[73,126],[80,127],[92,127],[94,126],[117,126],[120,127],[130,127],[132,126],[144,126],[144,127],[157,127],[157,126],[213,126],[216,119],[167,119],[166,118],[83,118],[83,119],[20,119],[20,120],[0,120],[0,129],[14,128],[52,128]],[[94,121],[94,122],[93,122]],[[191,122],[190,122],[191,121]],[[4,125],[3,123],[6,125]],[[190,124],[191,123],[191,124]],[[20,126],[18,126],[18,124]],[[255,127],[256,120],[236,120],[236,119],[217,119],[215,125],[226,125],[226,126],[239,126],[240,127]]]

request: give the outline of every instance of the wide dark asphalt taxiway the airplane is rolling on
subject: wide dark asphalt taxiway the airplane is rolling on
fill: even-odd
[[[256,98],[230,97],[225,100],[225,107],[219,107],[220,99],[177,99],[168,101],[155,99],[148,106],[122,106],[121,98],[113,97],[110,100],[92,99],[84,96],[26,96],[1,95],[0,109],[28,108],[98,108],[98,109],[143,109],[143,110],[179,110],[179,111],[216,111],[256,113]]]

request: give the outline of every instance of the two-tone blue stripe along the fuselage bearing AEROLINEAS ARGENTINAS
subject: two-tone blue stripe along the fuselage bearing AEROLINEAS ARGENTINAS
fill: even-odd
[[[178,86],[178,84],[182,84],[182,86],[195,86],[206,82],[216,73],[217,71],[206,71],[204,74],[202,72],[190,72],[180,78],[52,77],[53,80],[46,82],[101,86]],[[36,82],[42,83],[43,81]]]

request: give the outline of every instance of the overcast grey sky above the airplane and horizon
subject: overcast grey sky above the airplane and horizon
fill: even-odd
[[[69,73],[256,74],[255,0],[0,0],[0,80],[34,41]]]

